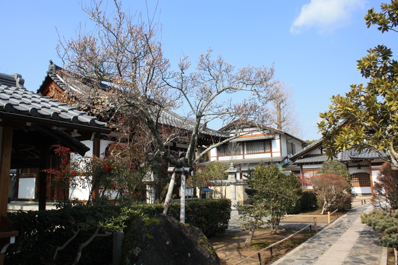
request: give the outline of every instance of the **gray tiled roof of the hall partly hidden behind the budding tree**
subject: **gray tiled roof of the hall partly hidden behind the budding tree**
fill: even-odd
[[[86,80],[85,83],[81,82],[80,80],[76,80],[73,77],[64,77],[62,76],[63,70],[61,67],[57,66],[50,60],[50,65],[48,67],[47,76],[45,77],[42,85],[37,90],[41,92],[44,88],[44,84],[48,79],[52,80],[59,88],[64,90],[65,92],[79,97],[79,88],[86,87],[90,88],[90,83],[93,83],[90,80]],[[107,85],[100,84],[100,89],[107,89]],[[160,114],[159,122],[163,125],[173,126],[181,129],[185,129],[188,131],[194,130],[195,123],[186,117],[178,115],[177,113],[171,110],[163,110]],[[204,128],[200,131],[200,134],[209,136],[209,137],[218,137],[218,138],[227,138],[229,137],[228,133],[223,133],[217,130],[212,130],[209,128]]]

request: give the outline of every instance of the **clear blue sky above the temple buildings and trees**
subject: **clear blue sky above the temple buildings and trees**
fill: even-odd
[[[294,89],[302,138],[318,139],[318,113],[328,109],[330,97],[366,82],[356,61],[378,44],[397,52],[397,33],[367,29],[363,19],[382,2],[159,0],[164,55],[173,67],[183,53],[195,62],[209,47],[236,67],[275,62],[275,77]],[[56,29],[69,39],[87,20],[80,6],[73,0],[0,0],[0,73],[21,74],[25,87],[36,91],[49,60],[62,65],[55,50]],[[155,6],[156,1],[148,0],[150,14]],[[146,13],[145,0],[123,0],[123,8]]]

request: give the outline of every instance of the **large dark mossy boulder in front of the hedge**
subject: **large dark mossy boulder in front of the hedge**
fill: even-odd
[[[220,264],[199,228],[163,214],[134,221],[124,236],[122,254],[122,265]]]

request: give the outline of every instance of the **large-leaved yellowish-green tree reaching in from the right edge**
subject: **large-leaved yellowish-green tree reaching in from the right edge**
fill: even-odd
[[[365,15],[368,28],[379,25],[384,32],[395,29],[398,22],[398,0],[382,3],[381,12],[369,9]],[[318,128],[323,135],[323,147],[329,157],[342,150],[374,151],[398,166],[398,62],[384,45],[368,50],[358,60],[358,71],[369,80],[351,85],[345,96],[331,98],[329,111],[320,113]]]

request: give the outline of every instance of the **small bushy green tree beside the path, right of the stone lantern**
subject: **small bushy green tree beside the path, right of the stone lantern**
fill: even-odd
[[[239,206],[239,209],[244,212],[240,217],[245,221],[243,227],[249,229],[245,246],[250,247],[254,232],[263,224],[264,217],[269,216],[267,223],[274,234],[277,233],[281,218],[295,207],[299,198],[299,183],[293,173],[286,175],[278,165],[266,167],[263,163],[249,174],[247,183],[252,188],[251,191],[246,191],[252,200],[252,206]]]

